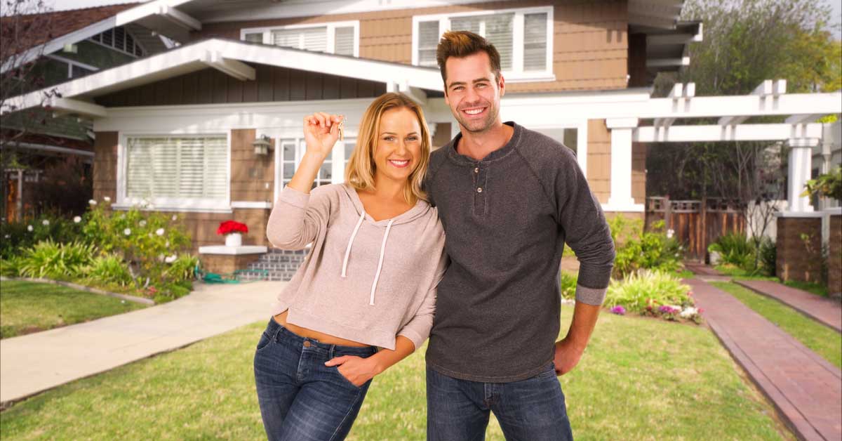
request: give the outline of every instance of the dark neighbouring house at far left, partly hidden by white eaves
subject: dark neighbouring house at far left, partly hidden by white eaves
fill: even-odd
[[[164,40],[141,24],[112,23],[116,14],[138,4],[3,16],[0,18],[3,87],[18,89],[16,92],[51,88],[72,78],[165,51]],[[92,32],[84,35],[87,30]],[[24,64],[23,73],[9,69],[11,62]],[[11,94],[4,91],[3,101]],[[18,153],[15,164],[3,170],[7,221],[32,211],[35,201],[24,187],[41,180],[45,168],[59,163],[80,164],[83,174],[91,179],[94,138],[91,122],[60,112],[54,116],[51,110],[42,107],[3,116],[0,120],[3,148],[13,148]],[[79,195],[83,200],[89,196]]]

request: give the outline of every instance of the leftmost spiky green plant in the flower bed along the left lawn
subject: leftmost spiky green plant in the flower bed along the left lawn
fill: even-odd
[[[82,242],[57,244],[51,239],[24,251],[19,273],[24,277],[68,279],[79,276],[93,261],[96,247]]]

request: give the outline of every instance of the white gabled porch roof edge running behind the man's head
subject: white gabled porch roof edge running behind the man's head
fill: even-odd
[[[397,62],[211,38],[104,69],[50,88],[19,95],[8,99],[7,108],[0,109],[0,113],[50,105],[54,109],[80,115],[102,116],[104,107],[92,104],[95,97],[207,67],[214,67],[243,81],[253,79],[254,68],[246,63],[393,84],[394,89],[408,94],[415,94],[419,89],[443,91],[439,69],[434,67],[409,66]],[[48,94],[55,94],[56,97],[45,102]]]

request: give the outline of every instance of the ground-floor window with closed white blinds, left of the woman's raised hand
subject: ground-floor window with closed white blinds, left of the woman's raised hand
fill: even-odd
[[[125,202],[226,203],[229,162],[226,136],[127,137]]]

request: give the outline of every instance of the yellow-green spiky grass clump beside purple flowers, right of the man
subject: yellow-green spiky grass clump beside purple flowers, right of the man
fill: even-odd
[[[640,270],[612,280],[605,296],[605,307],[623,306],[626,310],[648,315],[677,315],[693,308],[690,287],[668,272]],[[661,310],[661,306],[677,307],[678,311]],[[669,318],[669,317],[668,317]]]

